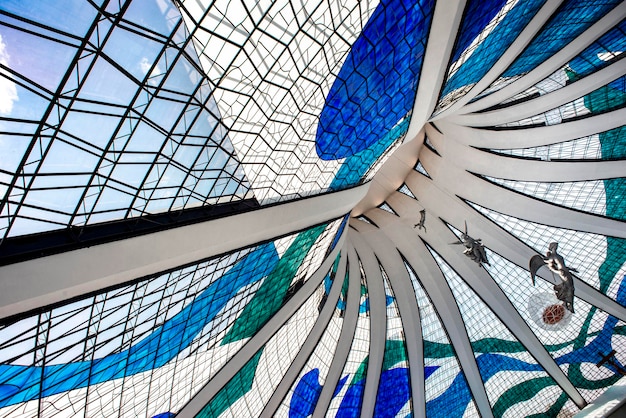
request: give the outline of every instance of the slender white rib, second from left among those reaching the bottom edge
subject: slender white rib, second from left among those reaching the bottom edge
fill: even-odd
[[[345,233],[344,233],[345,235]],[[320,312],[320,316],[315,322],[311,333],[308,335],[306,341],[302,345],[302,348],[293,359],[293,362],[289,366],[287,373],[282,378],[274,393],[270,397],[269,401],[265,404],[263,411],[261,412],[261,417],[273,417],[276,413],[276,409],[280,406],[281,402],[287,396],[287,392],[293,385],[293,382],[298,378],[300,371],[306,365],[309,357],[317,347],[317,344],[322,338],[322,335],[326,331],[326,327],[330,322],[335,308],[337,306],[337,301],[339,300],[339,296],[341,295],[341,288],[343,286],[344,277],[346,277],[346,258],[347,251],[344,249],[341,252],[341,258],[339,259],[339,265],[337,266],[337,272],[335,274],[335,278],[333,279],[332,287],[330,288],[330,292],[328,294],[328,298],[324,303],[324,307]]]

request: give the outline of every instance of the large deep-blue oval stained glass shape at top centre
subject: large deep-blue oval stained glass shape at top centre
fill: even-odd
[[[323,160],[375,144],[413,108],[434,2],[381,2],[355,41],[320,114],[316,151]]]

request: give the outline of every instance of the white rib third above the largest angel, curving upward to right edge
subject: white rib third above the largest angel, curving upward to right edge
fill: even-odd
[[[606,132],[624,126],[624,120],[626,120],[626,108],[558,125],[525,129],[496,131],[470,128],[443,120],[437,123],[437,128],[444,133],[446,138],[454,138],[463,144],[478,148],[515,149],[556,144]]]

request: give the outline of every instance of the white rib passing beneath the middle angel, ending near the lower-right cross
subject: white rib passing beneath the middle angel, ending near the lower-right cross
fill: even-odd
[[[493,310],[493,312],[506,324],[515,337],[526,347],[528,352],[537,360],[544,370],[554,379],[554,381],[567,393],[579,408],[584,408],[585,400],[580,395],[574,385],[568,380],[561,368],[556,364],[548,350],[539,341],[535,333],[520,316],[517,309],[502,289],[494,280],[478,267],[478,264],[470,261],[461,254],[458,247],[449,245],[454,242],[455,235],[444,226],[439,219],[433,219],[429,225],[433,229],[433,234],[429,235],[428,242],[433,246],[454,270],[464,278],[465,282],[476,292]],[[482,231],[481,231],[482,233]],[[446,238],[444,238],[446,237]],[[487,243],[486,243],[487,244]],[[456,251],[455,251],[456,250]]]

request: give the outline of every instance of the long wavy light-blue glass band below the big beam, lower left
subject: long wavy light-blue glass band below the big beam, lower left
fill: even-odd
[[[273,243],[258,247],[211,283],[178,314],[127,350],[92,361],[46,366],[0,364],[0,407],[132,376],[163,366],[191,344],[243,287],[276,265]],[[121,342],[121,341],[120,341]]]

